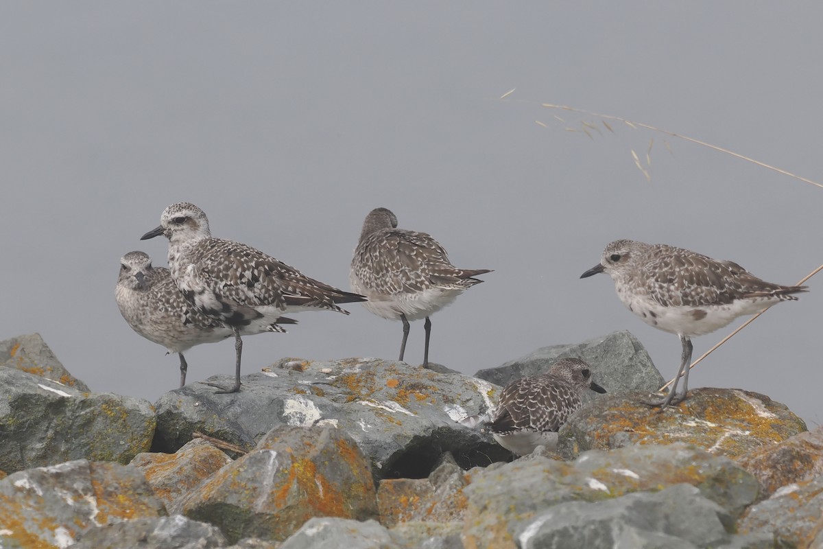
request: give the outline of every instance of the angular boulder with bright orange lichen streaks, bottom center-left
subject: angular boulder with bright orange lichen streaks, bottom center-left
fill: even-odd
[[[343,430],[328,426],[271,430],[181,504],[187,517],[216,525],[230,542],[283,540],[316,516],[377,516],[368,460]]]

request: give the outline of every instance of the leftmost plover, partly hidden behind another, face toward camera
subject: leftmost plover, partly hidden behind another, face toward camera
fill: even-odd
[[[225,324],[198,313],[184,300],[183,294],[171,280],[169,269],[152,267],[151,258],[143,252],[129,252],[120,259],[114,298],[123,319],[135,332],[179,355],[180,387],[186,384],[188,370],[184,351],[201,343],[220,342],[233,335],[231,328]],[[277,323],[294,324],[296,321],[280,317]],[[277,323],[252,328],[263,328],[264,332],[286,332]],[[241,329],[240,333],[257,332]]]

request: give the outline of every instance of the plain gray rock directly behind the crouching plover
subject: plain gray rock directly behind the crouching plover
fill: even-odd
[[[593,337],[581,343],[541,347],[517,360],[497,368],[480,370],[476,376],[504,387],[515,379],[542,374],[549,366],[565,357],[574,357],[592,366],[592,379],[608,393],[642,390],[657,391],[663,376],[654,367],[649,353],[631,333],[615,332]],[[596,393],[586,391],[584,402],[593,400]]]

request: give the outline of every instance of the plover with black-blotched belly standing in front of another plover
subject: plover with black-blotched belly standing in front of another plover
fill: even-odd
[[[337,304],[365,300],[306,277],[251,246],[212,238],[206,214],[189,202],[165,208],[160,226],[140,240],[160,235],[169,239],[171,278],[184,298],[200,313],[226,324],[235,336],[235,384],[211,384],[221,389],[217,393],[240,388],[244,333],[262,332],[284,313],[325,309],[348,314]]]

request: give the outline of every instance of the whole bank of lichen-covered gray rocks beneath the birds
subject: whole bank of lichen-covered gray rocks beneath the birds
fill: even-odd
[[[513,460],[458,422],[564,356],[608,393],[587,395],[557,454]],[[638,403],[661,384],[621,332],[476,376],[284,358],[239,393],[194,383],[151,404],[91,393],[39,335],[15,337],[0,547],[823,548],[823,429],[736,388]]]

